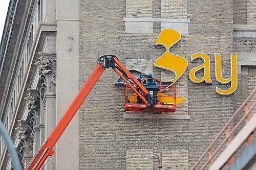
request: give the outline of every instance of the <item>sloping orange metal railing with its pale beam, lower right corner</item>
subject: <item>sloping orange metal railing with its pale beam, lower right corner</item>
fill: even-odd
[[[244,142],[246,142],[247,145],[249,145],[253,141],[253,139],[254,139],[254,134],[253,133],[255,131],[256,124],[252,121],[254,121],[254,119],[256,118],[256,115],[254,115],[253,119],[251,119],[251,111],[254,109],[254,107],[256,105],[256,102],[251,101],[251,99],[254,96],[255,92],[256,92],[256,89],[253,90],[253,92],[248,96],[248,98],[243,102],[243,104],[237,109],[237,111],[234,112],[233,116],[230,118],[230,120],[228,121],[226,126],[221,130],[221,132],[217,135],[217,137],[214,139],[214,141],[212,141],[212,143],[209,145],[207,150],[199,158],[199,160],[191,168],[191,170],[205,169],[206,166],[208,166],[208,165],[209,165],[210,169],[220,169],[225,163],[229,167],[234,162],[233,155],[234,155],[234,153],[236,153],[236,151],[239,149],[239,147],[241,147],[241,145],[244,144]],[[249,102],[253,102],[251,107],[250,107]],[[234,122],[234,120],[236,118],[238,118],[239,113],[241,113],[241,111],[243,109],[245,109],[245,113],[243,114],[243,116],[239,120],[239,122],[236,124],[236,122]],[[250,122],[250,119],[251,119],[251,122]],[[244,131],[246,131],[247,129],[245,129],[245,128],[248,128],[248,127],[246,127],[246,125],[248,125],[249,122],[250,122],[250,129],[252,129],[251,130],[252,132],[251,131],[248,132],[248,135],[246,135],[244,138],[241,138],[240,136],[242,136],[242,135],[237,130],[238,130],[239,127],[242,126],[242,123],[244,123],[245,121],[246,121],[246,124],[243,126],[243,128],[239,132],[243,133]],[[234,126],[232,130],[231,130],[230,125]],[[232,135],[234,134],[234,132],[237,132],[237,135],[233,136],[233,140],[232,140]],[[221,139],[221,136],[224,133],[226,133],[225,139],[221,141],[221,144],[217,145],[216,144],[217,140],[219,141],[219,139]],[[228,145],[230,145],[230,143],[232,141],[239,143],[239,145],[236,146],[236,149],[228,148]],[[225,145],[225,143],[227,144],[227,147],[224,149],[223,146]],[[232,143],[232,144],[236,145],[237,143]],[[217,149],[214,151],[214,148],[217,148]],[[220,150],[223,150],[223,149],[224,149],[224,151],[222,153],[220,153]],[[227,150],[228,150],[228,152],[225,152]],[[226,154],[226,153],[229,153],[229,154]],[[222,156],[220,159],[225,158],[225,156],[226,156],[226,159],[218,160],[217,154]],[[223,154],[223,155],[221,155],[221,154]],[[208,159],[207,159],[206,155],[209,155]],[[215,157],[217,157],[217,158],[215,158]],[[205,159],[207,159],[206,162],[203,162],[203,160],[205,160]],[[219,165],[214,166],[215,163],[218,163]]]

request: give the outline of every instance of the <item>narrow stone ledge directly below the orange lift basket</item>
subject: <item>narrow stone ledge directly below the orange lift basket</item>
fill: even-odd
[[[133,114],[124,113],[123,118],[161,118],[161,119],[190,119],[190,115],[178,114]]]

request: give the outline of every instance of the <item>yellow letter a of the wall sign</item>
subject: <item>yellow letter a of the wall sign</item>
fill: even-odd
[[[191,56],[191,61],[195,60],[196,58],[203,59],[204,63],[196,68],[191,69],[189,72],[189,79],[193,83],[202,83],[205,81],[205,83],[212,83],[210,79],[210,59],[209,57],[204,53],[196,53]],[[201,79],[198,79],[196,77],[196,72],[204,69],[204,76]]]

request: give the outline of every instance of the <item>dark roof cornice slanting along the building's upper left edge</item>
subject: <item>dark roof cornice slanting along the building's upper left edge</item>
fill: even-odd
[[[14,4],[14,2],[16,4]],[[13,69],[17,65],[17,44],[21,41],[20,30],[25,25],[26,0],[11,1],[6,18],[6,24],[1,41],[1,74],[0,74],[0,111],[3,119],[3,108],[10,94],[10,83],[14,80]],[[9,11],[10,10],[10,11]],[[14,11],[13,11],[14,10]],[[12,22],[9,18],[12,15]],[[8,19],[9,18],[9,19]],[[11,22],[11,23],[9,23]],[[14,27],[15,26],[15,27]],[[8,36],[7,36],[8,35]]]

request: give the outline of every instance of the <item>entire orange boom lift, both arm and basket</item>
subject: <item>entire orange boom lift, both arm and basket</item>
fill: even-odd
[[[86,84],[77,94],[75,100],[70,105],[69,109],[60,119],[58,125],[53,130],[52,134],[42,144],[35,156],[30,161],[28,170],[38,170],[44,164],[46,159],[54,154],[53,147],[65,131],[77,110],[87,98],[88,94],[97,83],[100,76],[106,68],[112,68],[126,83],[125,87],[125,110],[139,112],[175,112],[176,110],[176,87],[159,84],[144,84],[139,82],[129,70],[113,55],[101,56],[98,59],[96,68],[92,75],[87,80]],[[143,81],[143,80],[142,80]],[[162,91],[172,92],[172,95],[162,94]],[[140,102],[134,102],[132,99],[140,99]],[[138,101],[138,100],[137,100]],[[172,103],[169,103],[172,101]]]

